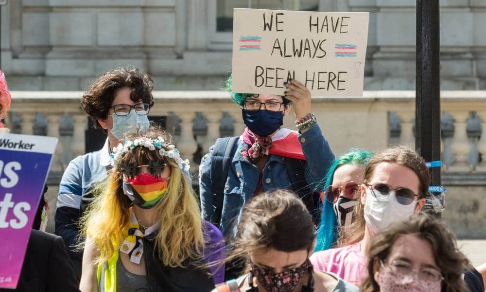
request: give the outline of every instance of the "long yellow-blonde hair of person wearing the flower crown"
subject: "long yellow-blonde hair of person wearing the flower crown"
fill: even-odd
[[[127,137],[156,139],[158,136],[172,143],[172,137],[159,128],[151,127],[144,134]],[[169,150],[169,149],[166,149]],[[145,164],[154,159],[163,159],[171,167],[168,191],[155,206],[160,227],[155,237],[156,251],[164,265],[183,267],[186,259],[201,258],[204,247],[203,226],[199,204],[188,178],[168,157],[160,157],[158,151],[146,147],[136,147],[125,153],[105,182],[97,186],[95,200],[88,207],[81,220],[83,234],[89,237],[99,250],[95,259],[97,264],[106,262],[127,236],[132,202],[122,189],[121,164],[136,161]]]

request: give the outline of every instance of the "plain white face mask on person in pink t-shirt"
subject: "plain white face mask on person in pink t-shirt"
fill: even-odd
[[[405,219],[414,214],[417,201],[402,205],[397,201],[395,191],[382,200],[373,196],[371,187],[366,187],[366,202],[364,203],[364,220],[373,233],[388,227],[391,223]]]

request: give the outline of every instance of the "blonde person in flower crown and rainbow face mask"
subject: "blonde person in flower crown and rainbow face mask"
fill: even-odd
[[[81,219],[82,292],[208,292],[223,281],[221,232],[201,219],[189,161],[156,127],[113,148]]]

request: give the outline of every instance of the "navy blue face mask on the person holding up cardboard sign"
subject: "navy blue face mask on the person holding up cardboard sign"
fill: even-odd
[[[283,111],[242,109],[246,127],[260,137],[266,137],[283,125]]]

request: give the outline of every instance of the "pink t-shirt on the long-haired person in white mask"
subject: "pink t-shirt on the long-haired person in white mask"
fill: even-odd
[[[368,258],[361,253],[359,242],[314,253],[311,262],[314,269],[337,274],[358,287],[367,274]]]

